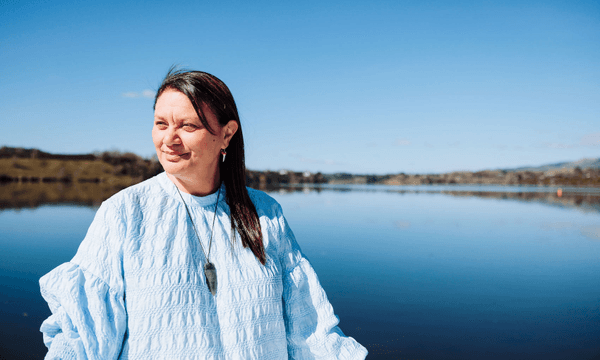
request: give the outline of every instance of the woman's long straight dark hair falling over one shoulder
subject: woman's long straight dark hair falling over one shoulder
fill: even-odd
[[[156,92],[155,106],[156,100],[167,89],[179,91],[187,96],[202,125],[212,134],[215,134],[215,129],[212,129],[206,120],[202,111],[203,104],[208,106],[221,126],[226,125],[230,120],[237,122],[238,129],[229,142],[225,161],[220,162],[219,165],[221,181],[226,189],[225,199],[231,212],[231,236],[235,239],[237,230],[242,245],[249,247],[254,256],[264,265],[266,255],[258,213],[246,189],[244,137],[233,95],[227,85],[214,75],[202,71],[178,70],[173,67],[169,69]]]

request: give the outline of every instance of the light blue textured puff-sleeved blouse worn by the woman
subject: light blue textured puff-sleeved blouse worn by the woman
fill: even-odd
[[[75,257],[40,280],[46,359],[363,359],[337,327],[280,205],[248,189],[266,265],[231,236],[225,187],[197,197],[162,173],[105,201]],[[215,215],[215,205],[216,215]],[[206,286],[206,257],[217,293]]]

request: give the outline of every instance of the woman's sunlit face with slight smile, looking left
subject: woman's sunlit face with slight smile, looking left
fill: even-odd
[[[214,135],[202,125],[183,93],[167,89],[156,100],[152,128],[156,155],[165,171],[179,180],[218,176],[220,150],[227,148],[237,130],[234,120],[221,126],[206,105],[202,110]]]

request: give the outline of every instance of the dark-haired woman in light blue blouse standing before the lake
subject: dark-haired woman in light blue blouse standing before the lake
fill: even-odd
[[[47,359],[362,359],[281,207],[245,187],[227,86],[171,70],[154,102],[165,172],[98,210],[42,277]]]

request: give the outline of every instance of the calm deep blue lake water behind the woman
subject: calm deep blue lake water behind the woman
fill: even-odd
[[[600,359],[598,211],[423,192],[271,195],[370,359]],[[37,281],[74,255],[94,212],[0,212],[0,358],[43,357]]]

